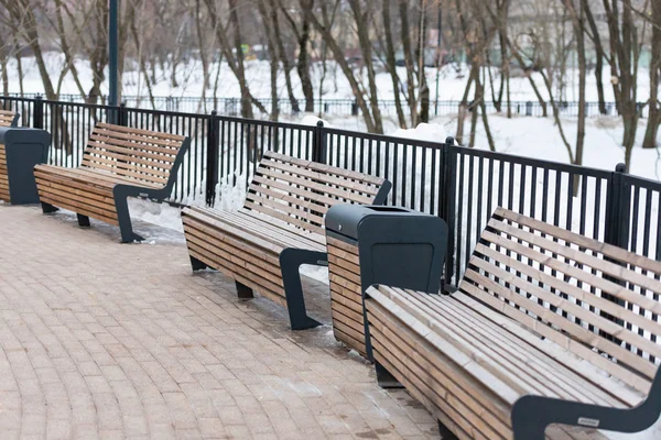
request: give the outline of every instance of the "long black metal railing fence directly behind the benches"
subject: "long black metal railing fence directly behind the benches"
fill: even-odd
[[[614,172],[346,130],[235,117],[0,97],[23,125],[53,134],[51,162],[80,163],[94,124],[108,121],[192,139],[171,201],[219,206],[245,189],[277,151],[388,178],[388,202],[440,216],[449,227],[445,277],[458,284],[494,209],[502,206],[661,258],[661,183]]]

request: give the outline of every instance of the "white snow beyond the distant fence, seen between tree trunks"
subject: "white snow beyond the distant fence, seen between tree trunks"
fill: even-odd
[[[45,54],[45,64],[46,68],[51,74],[51,78],[53,78],[54,84],[56,85],[56,79],[59,76],[59,73],[65,65],[65,59],[62,54],[51,52]],[[79,79],[83,84],[84,90],[89,90],[93,82],[93,74],[89,68],[89,64],[83,59],[76,59],[75,62],[76,68],[79,73]],[[36,68],[36,64],[33,57],[26,57],[22,59],[24,78],[23,78],[23,87],[25,92],[43,92],[44,87],[42,79],[39,74],[39,69]],[[392,79],[390,75],[383,70],[381,66],[378,66],[377,70],[377,89],[379,90],[379,99],[393,99],[393,86]],[[209,67],[212,73],[212,82],[215,80],[216,72],[220,68],[219,77],[218,77],[218,97],[227,97],[227,98],[239,98],[240,97],[240,88],[239,84],[231,73],[230,68],[226,63],[213,63]],[[149,68],[151,70],[151,67]],[[163,67],[156,66],[155,68],[155,78],[156,82],[152,86],[152,90],[154,96],[172,96],[172,97],[201,97],[203,92],[203,70],[202,63],[197,59],[188,59],[187,62],[180,63],[176,68],[176,79],[177,86],[172,86],[171,79],[171,66],[165,65]],[[282,69],[280,69],[280,75],[278,76],[278,94],[280,97],[286,97],[285,89],[285,80]],[[337,99],[337,98],[354,98],[351,92],[351,88],[339,70],[337,65],[334,62],[327,63],[327,75],[324,79],[324,99]],[[8,66],[9,77],[11,80],[9,81],[9,91],[19,92],[20,86],[18,81],[18,64],[15,59],[10,59]],[[407,74],[404,67],[398,67],[398,73],[400,78],[405,81]],[[427,81],[430,87],[432,87],[433,92],[435,94],[435,82],[436,82],[436,69],[427,68]],[[498,80],[498,72],[495,69],[495,84],[499,84]],[[247,61],[246,62],[246,76],[247,81],[250,87],[250,91],[257,98],[268,98],[270,97],[270,63],[267,61]],[[319,79],[322,78],[322,64],[314,63],[312,65],[312,81],[315,87],[315,94],[319,87]],[[297,97],[303,97],[301,81],[296,75],[295,69],[291,72],[294,94]],[[567,84],[566,96],[564,100],[567,101],[577,101],[577,84],[578,84],[578,73],[577,69],[568,68],[566,70],[566,79]],[[108,78],[108,75],[106,75]],[[460,100],[464,94],[464,88],[466,86],[466,81],[468,79],[468,67],[465,65],[446,65],[440,70],[440,87],[438,87],[438,97],[440,100]],[[542,87],[543,81],[539,73],[532,73],[533,80],[539,85],[541,95],[546,98],[546,91],[544,87]],[[604,78],[610,78],[609,68],[605,67],[604,69]],[[641,100],[647,100],[649,95],[649,74],[647,69],[641,68],[639,70],[638,76],[638,95],[641,97]],[[138,95],[142,97],[148,97],[148,90],[144,84],[144,79],[142,75],[137,70],[136,63],[131,61],[127,61],[124,63],[124,74],[123,74],[123,95]],[[1,85],[1,81],[0,81]],[[404,85],[405,88],[405,85]],[[105,81],[101,86],[104,95],[108,92],[108,82]],[[513,77],[510,80],[510,95],[513,101],[535,101],[535,95],[530,86],[530,81],[527,77]],[[608,101],[614,100],[613,96],[613,87],[604,88],[605,99]],[[61,94],[79,94],[79,90],[73,79],[73,76],[67,74],[63,81],[62,87],[59,89]],[[487,81],[485,85],[485,94],[487,96],[491,96],[490,85]],[[207,96],[213,95],[213,84],[212,89],[207,90]],[[435,96],[433,97],[435,98]],[[594,75],[587,76],[587,88],[586,88],[586,99],[588,101],[597,100],[597,88],[596,80]]]

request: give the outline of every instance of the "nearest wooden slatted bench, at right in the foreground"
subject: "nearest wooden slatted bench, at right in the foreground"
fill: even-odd
[[[457,293],[368,289],[378,378],[462,439],[641,431],[661,413],[660,276],[660,262],[499,208]]]

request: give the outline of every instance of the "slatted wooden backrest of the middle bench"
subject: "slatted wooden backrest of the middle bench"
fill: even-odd
[[[267,152],[245,208],[324,233],[324,216],[333,205],[382,205],[390,187],[384,178]]]

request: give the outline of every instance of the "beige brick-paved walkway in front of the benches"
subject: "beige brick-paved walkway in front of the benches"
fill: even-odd
[[[291,332],[280,307],[192,275],[178,234],[119,244],[98,224],[0,206],[1,439],[437,438],[328,326]]]

